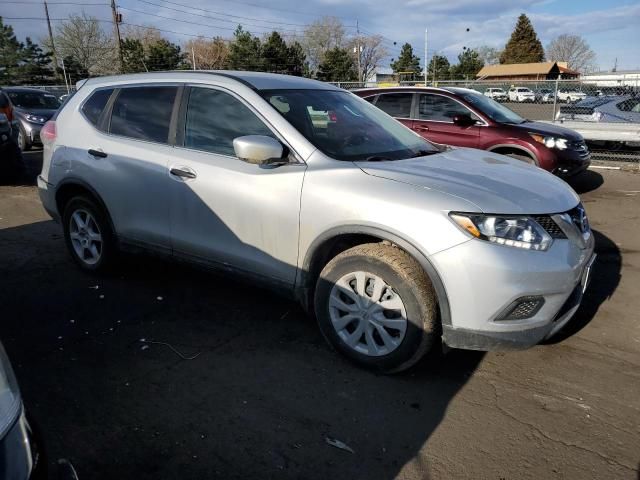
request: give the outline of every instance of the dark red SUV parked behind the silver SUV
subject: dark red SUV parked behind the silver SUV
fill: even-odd
[[[591,162],[579,133],[524,119],[475,90],[397,87],[353,93],[433,143],[501,153],[562,177],[586,170]]]

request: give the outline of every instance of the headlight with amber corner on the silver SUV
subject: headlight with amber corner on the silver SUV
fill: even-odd
[[[449,214],[456,225],[475,238],[526,250],[547,250],[553,239],[533,218],[521,215]]]

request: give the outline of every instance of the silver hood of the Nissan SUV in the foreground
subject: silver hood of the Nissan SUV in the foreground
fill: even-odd
[[[356,165],[369,175],[462,198],[485,213],[559,213],[580,201],[571,187],[549,172],[484,150],[455,148],[426,157]]]

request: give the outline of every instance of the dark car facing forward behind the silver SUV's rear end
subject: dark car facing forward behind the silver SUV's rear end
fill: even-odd
[[[41,144],[40,129],[56,113],[60,100],[36,88],[7,87],[3,91],[11,99],[19,123],[20,149],[26,151],[35,144]]]

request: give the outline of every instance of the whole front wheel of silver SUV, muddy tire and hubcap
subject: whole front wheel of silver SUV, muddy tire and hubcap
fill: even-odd
[[[352,362],[378,372],[410,368],[440,335],[429,277],[415,259],[391,245],[359,245],[337,255],[320,273],[314,303],[327,342]]]

